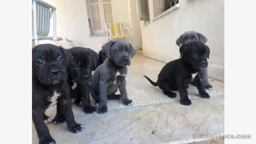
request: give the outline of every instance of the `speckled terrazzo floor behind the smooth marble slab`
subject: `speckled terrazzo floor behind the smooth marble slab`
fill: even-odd
[[[146,75],[153,81],[157,81],[158,74],[165,64],[166,63],[162,61],[145,57],[142,53],[137,52],[132,58],[131,65],[128,66],[128,74],[126,76],[128,98],[134,101],[134,105],[125,106],[122,104],[121,100],[108,101],[108,110],[179,101],[180,97],[178,91],[174,91],[178,96],[171,99],[164,95],[161,89],[154,87],[145,77],[143,77],[143,75]],[[213,90],[206,90],[211,97],[224,95],[223,82],[215,79],[209,79],[209,81],[214,87]],[[192,85],[190,85],[188,93],[190,99],[200,98],[196,87]],[[94,105],[93,99],[91,99],[91,102]],[[84,114],[82,107],[78,107],[76,105],[73,105],[73,112],[74,115]],[[48,116],[54,117],[55,113],[56,107],[51,107],[46,110],[46,114]]]

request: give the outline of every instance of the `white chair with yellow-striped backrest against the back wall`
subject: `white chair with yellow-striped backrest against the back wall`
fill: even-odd
[[[112,39],[126,39],[129,38],[129,42],[131,43],[131,36],[130,36],[130,29],[126,28],[124,24],[118,23],[109,23],[105,25],[106,27],[106,34],[107,34],[107,39],[112,40]],[[128,35],[125,35],[125,31],[128,31]]]

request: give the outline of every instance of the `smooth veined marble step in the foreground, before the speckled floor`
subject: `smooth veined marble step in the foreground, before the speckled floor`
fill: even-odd
[[[199,134],[224,133],[224,95],[192,99],[192,105],[179,101],[110,110],[106,114],[80,114],[76,122],[82,132],[68,131],[66,123],[47,124],[58,144],[223,144],[223,139],[198,139]],[[32,143],[38,137],[32,124]]]

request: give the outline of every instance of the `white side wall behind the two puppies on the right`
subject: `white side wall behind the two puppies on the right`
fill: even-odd
[[[149,0],[150,24],[143,26],[144,22],[140,22],[144,55],[165,62],[177,59],[180,53],[176,39],[194,30],[208,39],[209,76],[224,80],[224,0],[179,2],[180,8],[152,21],[153,0]]]

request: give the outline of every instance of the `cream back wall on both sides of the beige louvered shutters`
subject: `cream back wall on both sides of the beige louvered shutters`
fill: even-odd
[[[106,36],[90,37],[88,15],[85,0],[44,0],[53,6],[56,6],[57,18],[57,36],[62,37],[62,41],[58,41],[59,45],[65,48],[71,48],[66,39],[74,41],[76,46],[90,47],[96,52],[100,51],[101,46],[107,42]],[[134,12],[136,8],[132,0],[111,0],[114,9],[114,19],[116,22],[124,23],[130,28],[132,35],[132,45],[140,48],[138,42],[138,22],[134,21]],[[130,2],[131,1],[131,2]],[[135,1],[135,0],[134,0]],[[130,7],[132,6],[132,8]],[[136,13],[135,13],[136,14]],[[135,24],[136,23],[136,24]],[[131,30],[132,28],[132,30]],[[52,22],[51,29],[52,30]],[[50,31],[49,36],[53,36]],[[39,43],[53,43],[51,41],[39,41]]]

